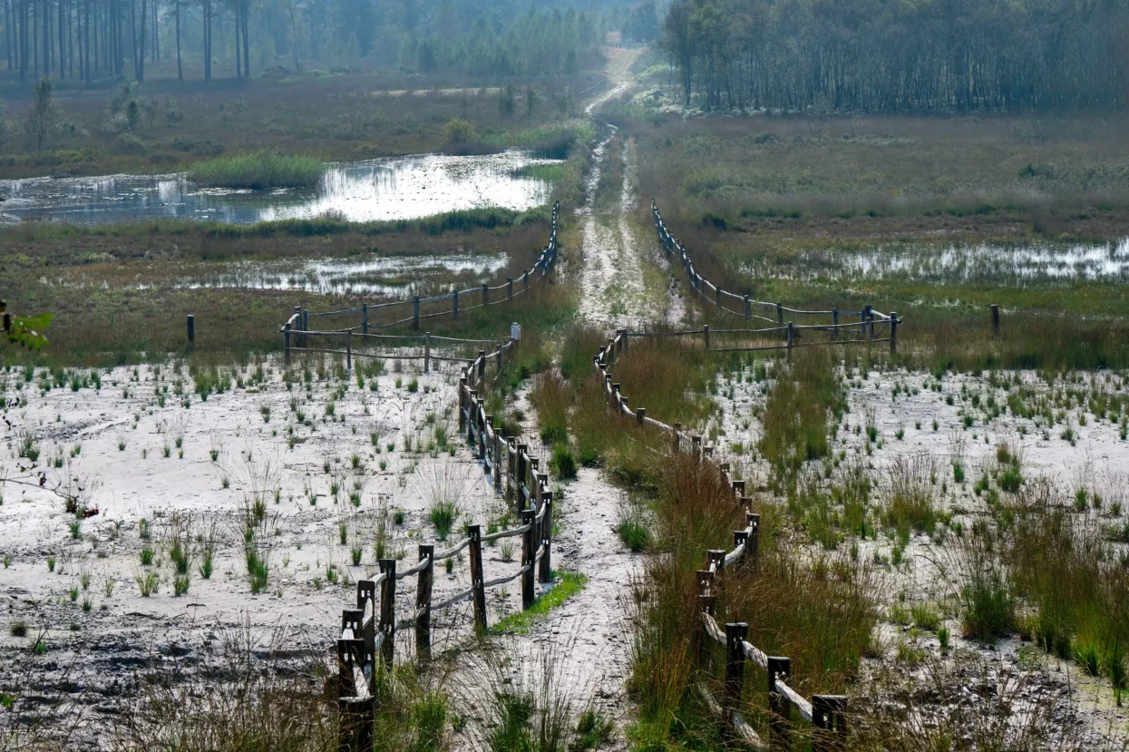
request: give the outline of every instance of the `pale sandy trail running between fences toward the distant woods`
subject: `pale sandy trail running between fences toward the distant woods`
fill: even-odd
[[[615,56],[609,64],[611,86],[588,105],[588,114],[632,86],[629,71],[638,52],[613,51]],[[623,149],[620,200],[607,208],[594,208],[601,161],[615,137],[615,129],[606,128],[610,133],[596,148],[586,206],[577,210],[580,257],[569,259],[563,274],[577,274],[581,320],[609,332],[662,318],[680,320],[683,307],[671,294],[667,273],[660,269],[665,261],[654,243],[640,242],[650,236],[631,217],[636,206],[632,145]],[[534,411],[524,395],[519,406],[527,414],[527,423],[535,426]],[[536,443],[533,436],[530,440]],[[631,657],[629,584],[638,575],[642,558],[632,554],[615,533],[627,493],[607,482],[601,470],[581,467],[578,478],[563,484],[561,492],[555,513],[561,528],[554,566],[583,572],[587,586],[540,621],[531,635],[514,639],[513,647],[523,659],[515,661],[511,671],[514,680],[520,681],[520,675],[536,667],[541,657],[551,656],[557,690],[574,710],[592,702],[605,717],[614,719],[618,738],[609,749],[622,750],[622,731],[631,715],[625,693]]]

